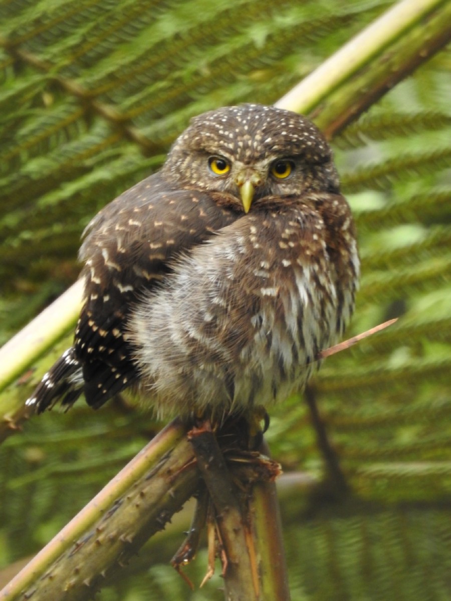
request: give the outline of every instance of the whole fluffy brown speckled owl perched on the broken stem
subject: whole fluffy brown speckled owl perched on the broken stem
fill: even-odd
[[[195,117],[161,170],[85,231],[73,346],[41,412],[139,386],[159,416],[223,416],[302,389],[342,334],[359,261],[330,147],[290,111]]]

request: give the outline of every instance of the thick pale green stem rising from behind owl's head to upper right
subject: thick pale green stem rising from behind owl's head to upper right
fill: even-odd
[[[331,138],[339,127],[357,118],[396,82],[446,44],[450,38],[450,10],[448,0],[398,2],[292,88],[276,106],[309,114]],[[434,19],[432,27],[431,18]],[[412,38],[419,42],[413,48]],[[397,62],[397,69],[393,64],[383,68],[387,57]],[[360,78],[363,69],[364,77]],[[356,86],[349,85],[354,81],[358,82],[357,90]],[[373,90],[377,94],[373,94]],[[356,102],[355,94],[362,91],[363,98]],[[337,97],[339,103],[335,102]]]

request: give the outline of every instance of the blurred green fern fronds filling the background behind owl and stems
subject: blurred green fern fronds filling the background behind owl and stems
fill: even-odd
[[[158,169],[189,117],[274,103],[393,4],[1,0],[0,343],[75,281],[85,225]],[[271,410],[272,454],[295,480],[281,485],[293,601],[451,598],[450,65],[437,53],[332,142],[362,260],[348,334],[400,319],[327,359],[311,389],[350,493],[304,398]],[[8,398],[23,402],[71,337]],[[131,401],[78,403],[8,438],[0,584],[159,427]],[[98,598],[222,599],[218,576],[191,593],[168,566],[180,520]],[[201,552],[187,572],[205,570]]]

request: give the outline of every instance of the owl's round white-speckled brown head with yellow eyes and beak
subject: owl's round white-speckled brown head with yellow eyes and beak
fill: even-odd
[[[267,197],[339,192],[318,127],[274,106],[225,106],[192,119],[162,174],[177,186],[219,192],[247,213]]]

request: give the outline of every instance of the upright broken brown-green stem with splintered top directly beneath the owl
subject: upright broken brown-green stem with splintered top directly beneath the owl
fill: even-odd
[[[215,510],[227,601],[289,601],[280,511],[274,479],[280,466],[250,454],[225,465],[215,435],[190,434]],[[237,484],[239,483],[239,484]]]

